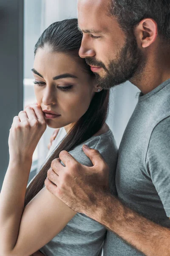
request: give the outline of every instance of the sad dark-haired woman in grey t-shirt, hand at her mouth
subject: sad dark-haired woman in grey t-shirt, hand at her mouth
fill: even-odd
[[[85,143],[102,154],[110,166],[110,189],[115,188],[117,148],[105,124],[109,91],[96,84],[79,57],[81,41],[77,19],[72,19],[53,23],[35,45],[38,105],[20,111],[10,129],[10,160],[0,193],[0,255],[30,256],[40,249],[47,256],[97,256],[102,248],[105,227],[74,212],[44,185],[52,160],[62,150],[92,165],[82,151]],[[67,135],[27,187],[32,155],[46,125],[65,129]]]

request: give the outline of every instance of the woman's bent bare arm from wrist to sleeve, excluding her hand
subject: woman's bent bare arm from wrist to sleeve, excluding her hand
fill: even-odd
[[[0,193],[0,256],[30,256],[76,214],[46,188],[23,209],[30,167],[30,162],[8,166]]]

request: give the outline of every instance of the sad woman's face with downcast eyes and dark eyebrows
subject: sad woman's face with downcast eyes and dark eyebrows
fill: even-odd
[[[37,103],[42,111],[58,115],[45,116],[49,127],[65,127],[68,132],[88,110],[99,87],[85,73],[82,64],[83,60],[76,56],[37,50],[32,70]]]

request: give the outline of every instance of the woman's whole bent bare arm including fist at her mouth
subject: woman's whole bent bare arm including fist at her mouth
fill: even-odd
[[[30,256],[76,214],[45,188],[24,209],[32,155],[46,126],[37,105],[13,119],[8,138],[10,160],[0,193],[0,256]]]

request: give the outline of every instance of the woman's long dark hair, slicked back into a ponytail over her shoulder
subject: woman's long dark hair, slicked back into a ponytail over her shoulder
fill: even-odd
[[[36,55],[37,49],[50,47],[53,52],[63,52],[78,56],[78,50],[81,46],[82,33],[78,29],[77,19],[63,20],[51,24],[40,36],[34,48]],[[88,75],[94,79],[94,73],[84,61],[83,68]],[[42,189],[47,171],[51,167],[51,162],[59,157],[62,150],[71,151],[77,145],[84,143],[98,132],[104,125],[108,114],[109,91],[102,90],[95,93],[86,113],[77,121],[71,131],[65,136],[54,153],[42,165],[34,180],[26,189],[24,207],[34,198]]]

